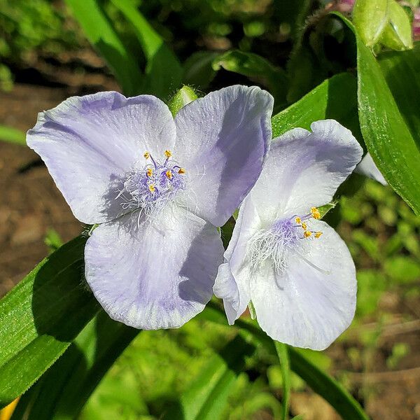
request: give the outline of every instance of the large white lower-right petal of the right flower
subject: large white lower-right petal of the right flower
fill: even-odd
[[[251,300],[267,335],[292,346],[323,350],[350,325],[356,308],[356,270],[344,241],[326,223],[309,253],[290,255],[283,275],[266,264],[251,278]],[[315,268],[314,266],[318,267]]]

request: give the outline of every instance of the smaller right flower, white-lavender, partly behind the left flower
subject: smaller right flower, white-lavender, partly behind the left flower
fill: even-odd
[[[356,272],[344,241],[320,221],[362,156],[334,120],[312,132],[296,128],[274,139],[258,179],[239,209],[214,293],[230,324],[252,302],[273,339],[325,349],[351,323]]]

